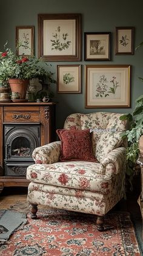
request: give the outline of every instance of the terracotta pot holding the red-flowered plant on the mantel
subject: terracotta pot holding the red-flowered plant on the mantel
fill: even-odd
[[[18,78],[10,78],[8,79],[8,83],[10,84],[12,92],[18,92],[19,98],[25,99],[27,86],[29,83],[28,79],[22,80]]]

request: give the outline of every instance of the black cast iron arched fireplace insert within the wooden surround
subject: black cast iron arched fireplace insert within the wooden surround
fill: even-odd
[[[5,176],[25,176],[34,164],[33,150],[40,146],[40,125],[4,125]]]

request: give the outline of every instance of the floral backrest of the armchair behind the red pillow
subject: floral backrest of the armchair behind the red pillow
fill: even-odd
[[[122,114],[112,112],[93,112],[90,114],[71,114],[64,123],[65,129],[90,129],[93,131],[93,153],[98,161],[113,149],[127,147],[127,143],[121,139],[122,131],[127,130],[127,121],[119,120]]]

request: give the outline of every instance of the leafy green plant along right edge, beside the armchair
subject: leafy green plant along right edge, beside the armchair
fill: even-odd
[[[136,47],[136,50],[143,46],[143,42]],[[141,81],[143,78],[139,77]],[[124,114],[120,117],[121,120],[129,121],[129,129],[122,133],[122,138],[127,137],[127,175],[130,177],[130,182],[135,175],[136,160],[139,153],[143,153],[143,94],[135,101],[135,109],[132,113]]]

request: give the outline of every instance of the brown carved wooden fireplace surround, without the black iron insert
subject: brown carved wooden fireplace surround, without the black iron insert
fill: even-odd
[[[55,140],[55,105],[55,102],[0,103],[0,192],[4,187],[27,187],[29,183],[20,173],[5,175],[4,125],[39,125],[40,145],[48,144]]]

